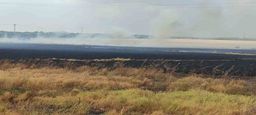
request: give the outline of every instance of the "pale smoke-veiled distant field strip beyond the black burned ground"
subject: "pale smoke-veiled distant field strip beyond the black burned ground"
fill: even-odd
[[[242,40],[242,39],[241,39]],[[238,40],[200,40],[200,39],[62,39],[62,38],[0,38],[0,42],[75,44],[75,45],[110,45],[133,47],[165,47],[165,48],[228,48],[255,49],[256,41]]]

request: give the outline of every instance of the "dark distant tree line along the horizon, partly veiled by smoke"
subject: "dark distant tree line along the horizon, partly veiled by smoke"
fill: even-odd
[[[104,34],[104,33],[61,33],[61,32],[9,32],[0,31],[0,38],[126,38],[126,39],[151,39],[154,36],[149,35],[118,35],[118,34]],[[203,39],[203,40],[244,40],[256,41],[256,38],[200,38],[200,37],[165,37],[165,39]]]

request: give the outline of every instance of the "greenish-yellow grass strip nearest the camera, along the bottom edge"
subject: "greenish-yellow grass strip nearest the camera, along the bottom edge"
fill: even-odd
[[[97,111],[112,115],[231,115],[238,112],[239,106],[240,110],[245,110],[250,100],[250,97],[246,96],[209,93],[203,90],[173,93],[153,93],[141,89],[93,92],[76,90],[56,97],[37,95],[27,100],[29,93],[19,94],[14,97],[17,108],[15,110],[11,109],[11,103],[8,103],[7,97],[11,95],[4,93],[0,97],[4,100],[0,104],[1,111],[28,115],[84,115]]]

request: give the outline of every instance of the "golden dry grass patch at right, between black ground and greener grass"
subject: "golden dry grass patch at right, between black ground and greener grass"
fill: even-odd
[[[254,84],[249,85],[245,80],[197,78],[191,76],[176,80],[171,83],[169,89],[172,91],[187,91],[193,88],[200,88],[216,93],[254,95],[256,93],[254,87]]]

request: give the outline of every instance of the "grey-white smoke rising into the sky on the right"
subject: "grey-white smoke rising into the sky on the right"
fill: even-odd
[[[228,0],[220,2],[203,1],[201,3],[244,3],[253,0]],[[151,31],[156,38],[166,36],[181,37],[243,37],[256,38],[254,4],[235,5],[201,5],[195,7],[217,8],[180,8],[162,10],[159,16],[152,20]],[[231,6],[231,7],[230,7]],[[191,7],[191,6],[189,6]],[[221,8],[223,7],[223,8]],[[225,8],[226,7],[226,8]]]

